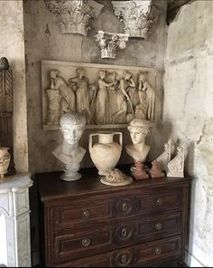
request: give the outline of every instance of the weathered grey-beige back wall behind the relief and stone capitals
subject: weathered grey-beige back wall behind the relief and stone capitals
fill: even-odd
[[[29,167],[30,171],[42,172],[60,169],[60,162],[51,155],[53,148],[61,140],[59,130],[42,130],[42,60],[69,62],[92,62],[117,65],[153,67],[159,70],[157,91],[162,92],[162,67],[165,49],[166,1],[156,1],[162,9],[159,21],[147,42],[132,39],[124,51],[118,51],[116,60],[101,60],[100,49],[94,41],[98,30],[124,33],[124,26],[114,14],[110,1],[98,1],[105,5],[100,17],[93,23],[88,37],[79,34],[60,34],[55,17],[41,1],[24,2],[24,29],[27,78],[27,107],[29,129]],[[157,106],[162,104],[162,93],[158,93]],[[117,129],[116,129],[117,130]],[[95,129],[94,129],[95,131]],[[129,133],[123,129],[125,144],[131,142]],[[156,131],[155,131],[156,132]],[[157,142],[157,136],[152,137]],[[88,130],[81,140],[81,146],[88,149]],[[153,146],[152,154],[157,147]],[[128,161],[125,151],[120,163]],[[93,166],[88,152],[81,167]]]

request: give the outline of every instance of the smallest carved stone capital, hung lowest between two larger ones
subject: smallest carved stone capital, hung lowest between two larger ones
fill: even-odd
[[[116,51],[125,49],[129,34],[116,34],[98,31],[94,36],[97,45],[101,49],[101,59],[116,59]]]

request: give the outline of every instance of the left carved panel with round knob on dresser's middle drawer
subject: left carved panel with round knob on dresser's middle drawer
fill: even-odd
[[[54,263],[107,251],[113,244],[112,234],[113,227],[103,225],[79,230],[74,228],[67,235],[57,235],[54,239]]]

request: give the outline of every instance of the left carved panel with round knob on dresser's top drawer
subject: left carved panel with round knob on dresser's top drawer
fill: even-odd
[[[73,201],[77,206],[58,206],[53,210],[54,229],[64,230],[73,225],[89,224],[98,219],[105,220],[111,217],[110,202],[94,202],[89,201],[85,204],[79,204],[78,200]],[[90,205],[91,204],[91,205]]]

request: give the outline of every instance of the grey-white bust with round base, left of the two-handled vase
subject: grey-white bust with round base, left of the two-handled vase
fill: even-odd
[[[85,116],[79,112],[70,111],[62,115],[60,119],[60,131],[63,135],[63,142],[52,154],[64,165],[64,174],[60,177],[63,180],[72,181],[81,177],[79,174],[79,163],[84,158],[86,149],[79,146],[86,126]]]

